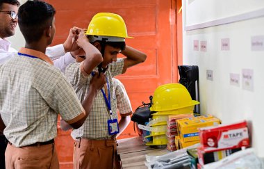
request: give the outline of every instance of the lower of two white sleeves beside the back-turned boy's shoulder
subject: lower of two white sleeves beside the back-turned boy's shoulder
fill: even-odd
[[[61,56],[60,58],[57,58],[56,60],[53,61],[54,65],[59,68],[59,70],[63,73],[65,73],[66,67],[70,63],[74,63],[75,58],[72,57],[72,55],[67,52],[64,56]]]

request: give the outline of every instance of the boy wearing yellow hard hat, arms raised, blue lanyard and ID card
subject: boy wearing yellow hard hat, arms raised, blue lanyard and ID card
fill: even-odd
[[[79,35],[77,43],[83,49],[85,60],[69,65],[65,71],[66,77],[81,102],[88,93],[94,72],[99,72],[99,75],[104,73],[107,83],[97,93],[92,111],[83,126],[72,131],[72,138],[75,140],[74,168],[115,168],[116,135],[122,126],[118,126],[117,122],[117,102],[113,99],[115,93],[112,77],[123,74],[127,68],[142,63],[147,58],[141,51],[127,46],[126,38],[131,38],[127,35],[126,24],[121,16],[114,13],[94,15],[88,31],[82,31]],[[91,44],[101,53],[97,59],[90,59]],[[81,55],[79,52],[72,54]],[[126,57],[117,58],[119,53]],[[103,61],[98,65],[101,58]]]

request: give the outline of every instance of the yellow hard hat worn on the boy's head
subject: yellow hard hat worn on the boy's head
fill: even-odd
[[[99,38],[98,40],[106,38],[110,42],[122,42],[124,38],[132,38],[127,35],[123,18],[115,13],[97,13],[94,15],[85,35],[93,35],[91,36],[93,38],[96,35],[95,38]]]

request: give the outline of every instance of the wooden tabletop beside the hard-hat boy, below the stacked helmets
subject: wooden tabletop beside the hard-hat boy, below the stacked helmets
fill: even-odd
[[[166,148],[146,146],[140,136],[117,140],[117,155],[122,161],[123,168],[145,169],[145,155],[162,155],[168,151]]]

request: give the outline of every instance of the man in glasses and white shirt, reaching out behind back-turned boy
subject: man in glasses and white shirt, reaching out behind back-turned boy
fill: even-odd
[[[17,0],[0,0],[0,65],[12,58],[17,50],[11,47],[11,42],[6,38],[15,35],[17,27],[17,11],[20,6]],[[74,27],[70,29],[67,40],[61,45],[48,47],[46,54],[51,58],[56,59],[53,61],[54,65],[62,72],[69,63],[73,63],[75,58],[71,54],[65,52],[75,50],[74,37],[79,29]],[[60,57],[61,56],[61,57]],[[0,117],[1,118],[1,117]],[[0,168],[5,168],[5,151],[7,146],[5,136],[0,132]]]

